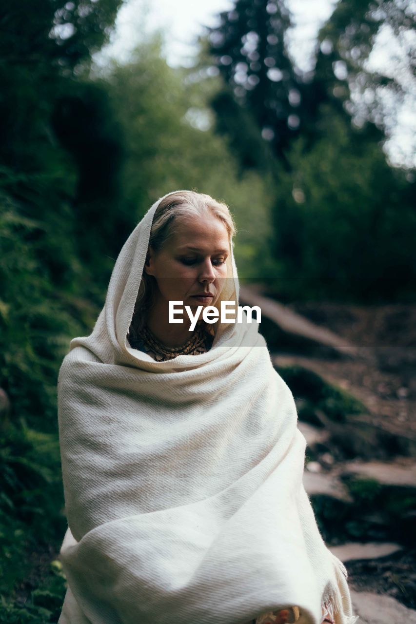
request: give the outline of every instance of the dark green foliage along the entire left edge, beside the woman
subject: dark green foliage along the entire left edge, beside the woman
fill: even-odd
[[[66,529],[56,380],[104,293],[79,253],[81,175],[59,144],[57,108],[79,94],[81,64],[107,40],[119,4],[6,0],[0,9],[0,388],[11,406],[0,414],[0,622],[9,624],[56,622],[64,596],[50,563]]]

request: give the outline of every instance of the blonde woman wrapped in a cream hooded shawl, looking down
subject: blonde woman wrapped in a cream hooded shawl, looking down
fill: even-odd
[[[91,336],[71,342],[58,385],[59,624],[357,619],[257,323],[202,318],[237,305],[233,234],[224,204],[165,195],[122,248]],[[170,301],[187,306],[176,323]]]

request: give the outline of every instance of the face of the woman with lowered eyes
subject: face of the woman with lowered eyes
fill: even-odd
[[[183,301],[196,309],[215,305],[227,277],[229,255],[229,235],[219,218],[182,217],[157,253],[149,248],[144,270],[157,282],[159,303]]]

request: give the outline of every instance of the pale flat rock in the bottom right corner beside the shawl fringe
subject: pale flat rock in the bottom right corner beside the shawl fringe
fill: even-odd
[[[353,613],[359,615],[357,624],[416,624],[416,611],[391,596],[350,590]]]

